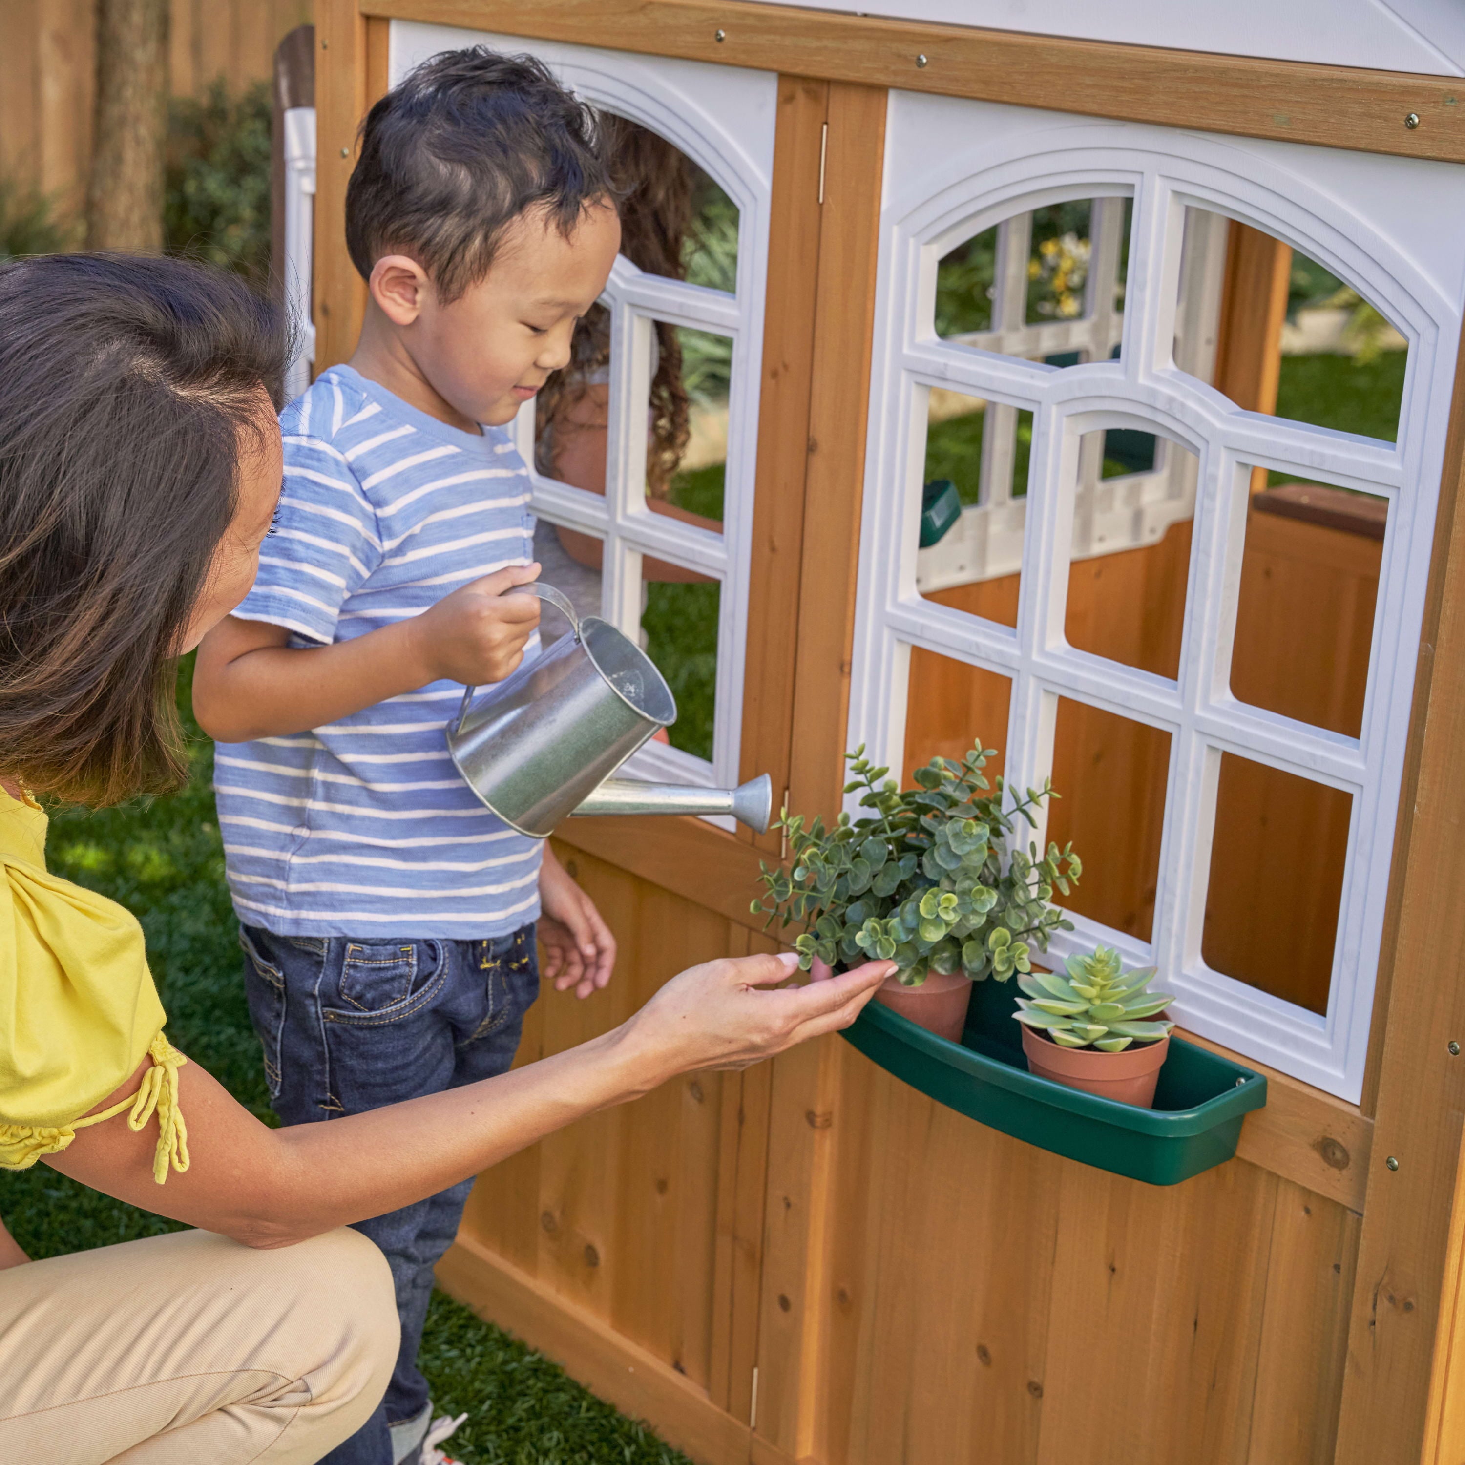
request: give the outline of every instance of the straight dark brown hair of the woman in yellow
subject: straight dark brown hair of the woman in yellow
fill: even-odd
[[[179,643],[287,344],[205,265],[0,267],[0,774],[91,804],[182,782]]]

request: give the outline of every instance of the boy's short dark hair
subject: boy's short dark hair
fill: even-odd
[[[614,198],[595,110],[536,57],[470,45],[423,62],[366,114],[346,248],[363,280],[382,255],[410,255],[451,302],[526,209],[568,234]]]

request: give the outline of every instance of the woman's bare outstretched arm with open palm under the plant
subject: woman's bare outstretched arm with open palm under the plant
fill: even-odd
[[[711,961],[674,977],[604,1037],[497,1078],[324,1124],[271,1130],[189,1064],[179,1072],[192,1154],[185,1173],[155,1184],[155,1127],[133,1132],[122,1116],[79,1131],[47,1163],[248,1245],[290,1245],[432,1195],[677,1074],[741,1068],[848,1027],[892,964],[769,990],[793,970],[791,957]],[[125,1084],[97,1108],[133,1088]]]

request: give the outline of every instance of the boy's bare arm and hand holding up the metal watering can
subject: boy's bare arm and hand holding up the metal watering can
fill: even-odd
[[[293,648],[284,626],[230,615],[198,649],[193,715],[215,741],[245,743],[324,727],[441,678],[502,681],[539,626],[538,599],[504,592],[538,573],[498,570],[420,615],[330,646]]]

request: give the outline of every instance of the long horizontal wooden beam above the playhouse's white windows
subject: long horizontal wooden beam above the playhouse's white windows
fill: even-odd
[[[1465,82],[747,4],[360,0],[362,12],[1169,127],[1465,163]],[[1405,117],[1415,114],[1417,127]]]

